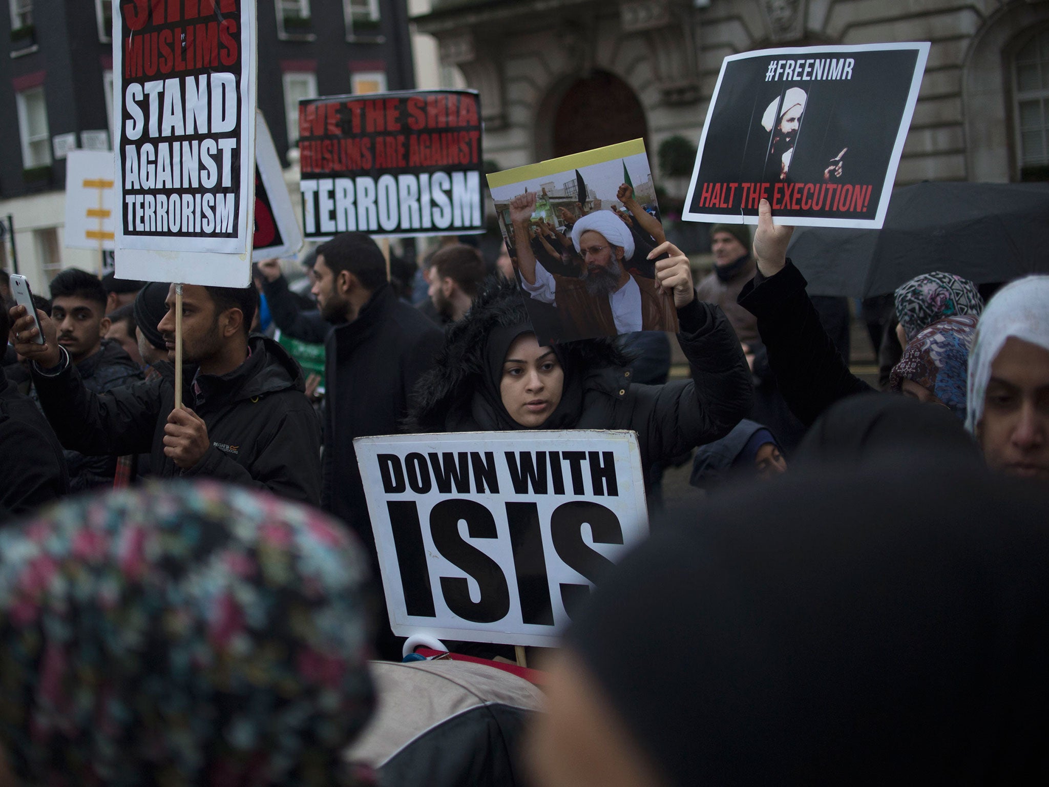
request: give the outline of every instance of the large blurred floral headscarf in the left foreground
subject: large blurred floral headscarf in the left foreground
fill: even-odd
[[[368,719],[365,561],[304,506],[214,483],[0,531],[0,740],[26,784],[345,785]]]

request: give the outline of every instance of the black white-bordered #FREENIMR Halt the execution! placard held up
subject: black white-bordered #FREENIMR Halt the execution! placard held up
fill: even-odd
[[[725,58],[684,218],[881,229],[928,43],[763,49]]]

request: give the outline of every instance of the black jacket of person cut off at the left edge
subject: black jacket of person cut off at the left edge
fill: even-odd
[[[62,444],[36,403],[0,371],[0,522],[69,491]]]

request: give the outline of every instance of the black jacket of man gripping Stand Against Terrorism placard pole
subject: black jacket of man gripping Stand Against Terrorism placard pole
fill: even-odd
[[[174,406],[174,366],[160,377],[97,395],[68,362],[48,377],[34,365],[40,403],[62,444],[88,454],[150,453],[154,475],[209,476],[320,502],[320,423],[303,390],[302,370],[277,342],[249,339],[251,355],[215,377],[183,373],[183,401],[208,427],[211,448],[188,470],[164,454],[164,427]],[[194,377],[196,379],[194,379]]]

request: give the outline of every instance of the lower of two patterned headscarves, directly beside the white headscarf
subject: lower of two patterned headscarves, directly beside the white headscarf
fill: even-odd
[[[969,315],[934,322],[907,344],[889,376],[889,387],[898,391],[904,380],[912,380],[964,421],[969,348],[976,333],[977,318]]]

